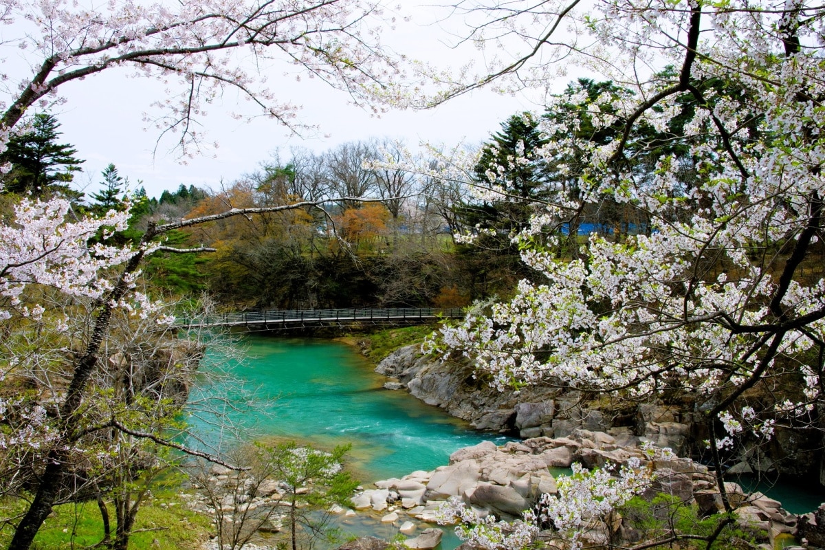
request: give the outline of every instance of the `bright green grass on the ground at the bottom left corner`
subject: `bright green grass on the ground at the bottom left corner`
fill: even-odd
[[[20,514],[25,507],[21,500],[0,501],[0,516],[7,518]],[[109,507],[112,536],[115,530],[115,510]],[[164,491],[145,502],[138,512],[137,525],[130,538],[131,550],[196,550],[209,537],[210,518],[187,510],[174,491]],[[0,547],[5,548],[12,538],[12,528],[2,524]],[[40,528],[33,550],[83,550],[101,542],[103,524],[97,503],[55,506]]]

